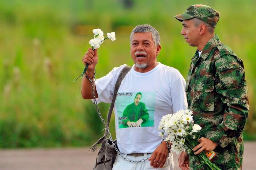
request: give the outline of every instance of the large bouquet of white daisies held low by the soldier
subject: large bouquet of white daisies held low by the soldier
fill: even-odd
[[[177,154],[180,154],[181,151],[186,151],[188,154],[193,153],[192,149],[199,144],[197,141],[200,138],[199,131],[202,127],[193,123],[192,114],[191,110],[179,110],[175,114],[163,116],[159,122],[158,130],[162,130],[159,132],[159,136],[163,138],[166,134],[165,141],[172,143],[171,151]],[[206,165],[208,169],[220,170],[214,163],[211,163],[205,153],[201,152],[194,156],[200,162],[200,167]]]

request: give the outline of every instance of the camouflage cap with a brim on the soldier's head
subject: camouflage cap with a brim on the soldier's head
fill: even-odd
[[[219,12],[209,6],[197,4],[189,6],[184,13],[174,17],[179,21],[196,17],[215,28],[219,21]]]

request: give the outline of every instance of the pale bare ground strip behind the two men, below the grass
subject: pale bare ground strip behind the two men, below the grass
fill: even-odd
[[[97,153],[88,148],[0,150],[0,170],[91,170]],[[245,142],[243,170],[256,170],[256,142]],[[178,167],[178,155],[174,153]]]

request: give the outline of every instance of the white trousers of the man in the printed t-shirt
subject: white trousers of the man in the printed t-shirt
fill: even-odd
[[[134,157],[127,154],[122,154],[124,158],[128,158],[132,161],[140,161],[144,158],[150,158],[151,154],[145,153],[143,156]],[[150,166],[150,161],[144,161],[139,163],[132,163],[125,161],[123,158],[121,158],[118,154],[116,155],[116,160],[113,164],[112,170],[148,170],[148,169],[154,169],[152,166]],[[157,170],[175,170],[175,165],[173,163],[173,154],[170,152],[170,156],[166,159],[165,164],[162,168],[157,168]]]

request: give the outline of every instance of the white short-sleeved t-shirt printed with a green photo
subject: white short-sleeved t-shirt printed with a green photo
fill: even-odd
[[[113,68],[108,75],[95,81],[97,102],[111,103],[114,86],[123,66]],[[139,104],[135,102],[140,92]],[[123,79],[114,105],[117,146],[121,153],[153,153],[162,138],[157,127],[166,114],[187,109],[185,80],[178,70],[161,63],[146,73],[134,70]],[[142,118],[141,127],[128,127],[131,122]]]

